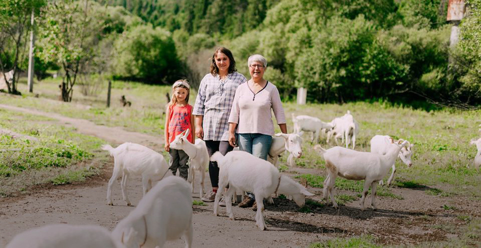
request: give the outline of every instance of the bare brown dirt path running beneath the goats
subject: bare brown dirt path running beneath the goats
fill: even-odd
[[[92,124],[86,120],[67,118],[58,114],[38,112],[24,108],[0,105],[0,108],[40,114],[58,119],[75,126],[78,132],[98,136],[111,143],[131,141],[146,146],[162,148],[160,137],[127,132]],[[112,160],[113,161],[113,160]],[[111,162],[112,162],[111,161]],[[106,166],[104,174],[87,183],[68,186],[49,186],[32,190],[32,193],[18,198],[0,199],[0,248],[4,247],[15,234],[26,229],[51,223],[99,224],[112,230],[132,207],[122,201],[119,184],[114,185],[115,206],[106,205],[107,181],[111,176],[112,163]],[[312,169],[292,168],[286,174],[322,174]],[[210,189],[207,178],[206,188]],[[196,184],[198,185],[198,184]],[[319,206],[310,213],[299,212],[299,208],[286,199],[275,198],[276,205],[266,206],[268,230],[261,232],[255,226],[255,212],[234,207],[235,221],[228,219],[225,208],[220,208],[219,217],[213,214],[213,203],[194,206],[194,243],[196,248],[290,248],[306,247],[315,241],[334,237],[352,237],[369,234],[383,244],[418,244],[426,241],[447,240],[457,236],[447,224],[462,226],[467,222],[459,216],[481,216],[481,204],[461,197],[436,197],[420,189],[393,188],[403,199],[378,197],[380,210],[360,211],[359,201],[354,201],[335,210],[330,206]],[[130,178],[129,197],[136,204],[140,197],[139,178]],[[312,199],[321,200],[319,188],[308,188],[316,193]],[[198,186],[196,187],[198,192]],[[338,194],[355,193],[338,190]],[[198,193],[193,194],[198,199]],[[370,197],[366,199],[367,206]],[[447,209],[443,206],[455,206]],[[184,247],[182,240],[167,243],[166,247]]]

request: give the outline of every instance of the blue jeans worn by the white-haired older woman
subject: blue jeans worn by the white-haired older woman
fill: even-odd
[[[265,134],[238,134],[237,144],[241,151],[247,151],[252,155],[267,160],[270,146],[272,144],[272,136]],[[252,192],[246,192],[247,196],[255,199]]]

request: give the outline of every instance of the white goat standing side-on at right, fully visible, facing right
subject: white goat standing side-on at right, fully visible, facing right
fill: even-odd
[[[323,155],[326,161],[328,175],[324,180],[324,198],[329,203],[329,196],[332,200],[332,206],[337,208],[336,200],[332,189],[338,175],[349,180],[364,180],[364,189],[361,198],[361,210],[364,210],[364,199],[367,196],[369,185],[371,186],[371,204],[377,209],[376,204],[376,186],[391,168],[392,163],[396,160],[401,148],[405,147],[407,141],[402,144],[393,143],[388,146],[385,155],[373,152],[362,152],[347,149],[343,147],[333,147],[330,149],[319,148],[319,153]]]

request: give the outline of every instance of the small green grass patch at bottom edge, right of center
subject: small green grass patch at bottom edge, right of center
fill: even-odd
[[[375,238],[370,235],[352,237],[348,239],[335,238],[321,243],[313,243],[309,248],[382,248],[375,244]]]

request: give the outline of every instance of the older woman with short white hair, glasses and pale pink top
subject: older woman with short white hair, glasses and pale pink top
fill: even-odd
[[[237,144],[239,149],[267,160],[274,135],[272,111],[284,134],[287,133],[286,117],[277,87],[264,79],[266,58],[259,54],[252,55],[247,65],[251,79],[237,87],[228,120],[228,141],[231,146]],[[253,202],[253,198],[244,198],[239,206],[249,207]]]

